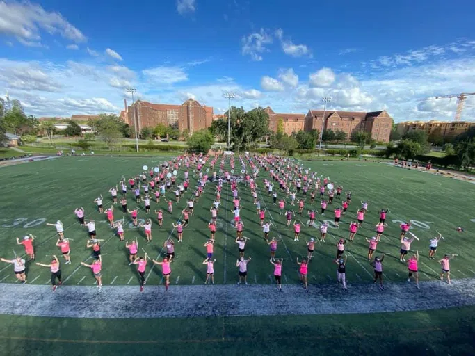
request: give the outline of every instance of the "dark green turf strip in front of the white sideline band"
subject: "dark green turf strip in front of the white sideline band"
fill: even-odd
[[[0,316],[1,355],[474,355],[475,306],[421,312],[159,319]],[[224,339],[223,339],[224,338]]]

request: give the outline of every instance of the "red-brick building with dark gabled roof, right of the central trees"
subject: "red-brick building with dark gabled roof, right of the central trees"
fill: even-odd
[[[353,111],[325,111],[310,110],[305,116],[305,131],[318,129],[331,129],[332,131],[344,131],[347,139],[355,131],[371,133],[371,138],[378,142],[389,142],[392,129],[392,118],[386,111],[373,111],[371,113]]]

